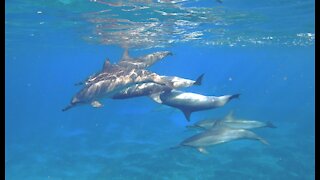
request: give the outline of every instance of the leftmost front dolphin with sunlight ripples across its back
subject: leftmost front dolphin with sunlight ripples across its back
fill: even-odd
[[[173,83],[167,79],[145,69],[127,69],[116,64],[111,64],[107,59],[102,68],[102,73],[82,88],[63,109],[66,111],[78,104],[91,103],[93,107],[101,107],[99,99],[112,97],[119,91],[139,83],[154,82],[173,88]]]

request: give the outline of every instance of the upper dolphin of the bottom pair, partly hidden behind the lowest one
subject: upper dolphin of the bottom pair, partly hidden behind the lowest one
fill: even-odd
[[[228,127],[235,129],[254,129],[262,127],[276,128],[271,122],[261,122],[255,120],[246,120],[246,119],[237,119],[233,116],[233,111],[231,111],[227,116],[222,119],[205,119],[196,122],[188,128],[201,128],[201,129],[210,129],[217,124],[224,124]]]

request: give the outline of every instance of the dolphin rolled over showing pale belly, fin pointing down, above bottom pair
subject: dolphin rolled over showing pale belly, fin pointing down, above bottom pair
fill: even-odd
[[[157,103],[180,109],[186,119],[190,121],[192,112],[203,111],[224,106],[231,99],[238,98],[240,94],[224,96],[204,96],[201,94],[171,90],[164,93],[150,95]]]

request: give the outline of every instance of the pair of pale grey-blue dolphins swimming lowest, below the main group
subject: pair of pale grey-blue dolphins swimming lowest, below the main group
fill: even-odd
[[[178,146],[171,149],[192,147],[200,153],[208,154],[206,147],[240,139],[258,140],[263,144],[269,145],[264,138],[250,131],[250,129],[263,127],[276,128],[269,121],[261,122],[235,118],[233,111],[230,111],[223,118],[200,120],[193,125],[187,126],[190,129],[202,129],[204,131],[183,140]]]

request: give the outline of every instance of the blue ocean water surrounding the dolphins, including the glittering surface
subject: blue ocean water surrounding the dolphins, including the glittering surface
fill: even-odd
[[[315,31],[312,0],[6,0],[6,179],[315,179]],[[76,82],[116,63],[171,51],[150,67],[240,93],[191,122],[148,97],[103,99],[62,112]],[[270,145],[239,140],[170,149],[186,125],[225,116],[270,121]]]

